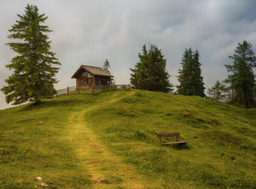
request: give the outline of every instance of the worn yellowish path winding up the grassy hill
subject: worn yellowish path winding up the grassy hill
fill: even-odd
[[[134,92],[127,96],[132,96]],[[68,128],[69,140],[75,147],[79,166],[85,168],[93,182],[92,188],[149,188],[145,176],[135,173],[135,168],[122,163],[122,159],[110,152],[104,144],[97,139],[97,134],[87,127],[84,115],[90,110],[100,108],[100,105],[114,103],[119,98],[94,105],[70,116]],[[136,176],[136,177],[135,177]]]

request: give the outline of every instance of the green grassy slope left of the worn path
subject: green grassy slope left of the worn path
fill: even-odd
[[[62,96],[0,110],[0,188],[84,188],[91,184],[68,142],[71,113],[95,97]],[[37,177],[43,178],[38,181]]]

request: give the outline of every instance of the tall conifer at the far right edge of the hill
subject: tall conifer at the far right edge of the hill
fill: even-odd
[[[252,45],[245,40],[242,44],[238,42],[235,54],[229,58],[233,59],[233,65],[224,66],[233,73],[225,79],[225,83],[230,84],[230,89],[234,91],[230,103],[243,108],[255,108],[255,74],[252,69],[256,67],[256,57]]]

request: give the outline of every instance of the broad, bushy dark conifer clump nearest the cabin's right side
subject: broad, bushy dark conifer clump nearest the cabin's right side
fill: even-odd
[[[173,91],[166,71],[166,59],[161,50],[156,45],[151,45],[149,51],[146,51],[144,45],[142,52],[139,52],[140,62],[135,64],[134,69],[130,69],[133,72],[130,81],[134,88],[165,93]]]

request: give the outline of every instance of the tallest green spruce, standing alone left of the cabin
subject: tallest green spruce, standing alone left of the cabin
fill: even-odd
[[[56,91],[53,84],[59,68],[51,67],[51,64],[61,65],[54,57],[55,53],[50,52],[50,33],[48,26],[41,25],[48,17],[39,14],[37,6],[27,5],[26,14],[21,16],[16,24],[12,25],[7,36],[10,39],[23,40],[23,42],[9,42],[6,45],[19,55],[6,65],[8,69],[14,69],[14,73],[6,79],[8,86],[1,88],[6,94],[6,103],[14,102],[12,105],[35,101],[40,104],[43,98],[53,98]]]

